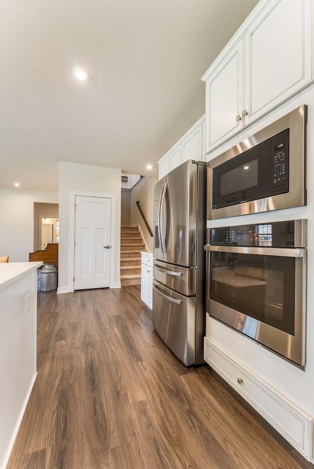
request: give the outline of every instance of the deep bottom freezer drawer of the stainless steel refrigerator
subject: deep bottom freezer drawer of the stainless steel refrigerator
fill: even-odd
[[[195,296],[184,296],[153,280],[153,325],[185,366],[195,363]]]

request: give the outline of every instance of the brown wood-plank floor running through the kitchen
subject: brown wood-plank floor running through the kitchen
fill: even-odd
[[[302,468],[161,342],[140,287],[38,295],[38,376],[7,469]]]

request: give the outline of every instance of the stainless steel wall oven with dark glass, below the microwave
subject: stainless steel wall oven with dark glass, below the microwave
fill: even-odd
[[[209,229],[207,312],[304,370],[307,221]]]

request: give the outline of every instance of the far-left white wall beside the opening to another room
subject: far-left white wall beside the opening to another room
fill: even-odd
[[[0,189],[0,256],[28,262],[34,248],[34,202],[58,203],[54,192]]]

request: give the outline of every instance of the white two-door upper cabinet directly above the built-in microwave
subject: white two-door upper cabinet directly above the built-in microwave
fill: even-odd
[[[314,0],[261,0],[203,76],[206,152],[313,82]]]

